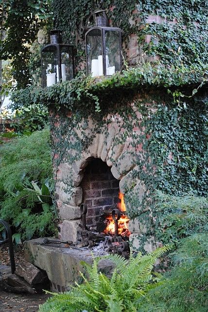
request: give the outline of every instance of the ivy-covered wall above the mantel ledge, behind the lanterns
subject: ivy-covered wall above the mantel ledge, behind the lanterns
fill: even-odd
[[[85,60],[85,30],[96,8],[107,9],[111,25],[122,29],[127,63],[154,61],[201,77],[208,70],[207,0],[53,0],[55,25],[77,46],[78,62]]]

